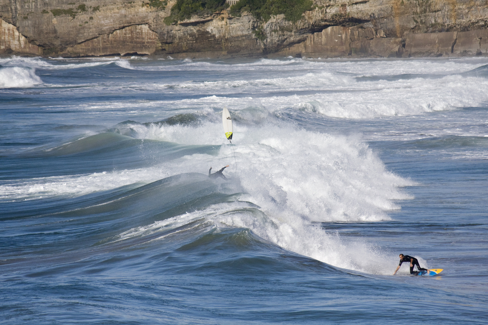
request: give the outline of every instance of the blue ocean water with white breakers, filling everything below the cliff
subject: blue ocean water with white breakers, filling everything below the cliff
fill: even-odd
[[[0,126],[0,324],[486,324],[486,57],[3,57]]]

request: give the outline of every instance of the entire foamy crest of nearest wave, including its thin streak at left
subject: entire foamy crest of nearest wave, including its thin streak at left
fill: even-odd
[[[246,198],[247,199],[247,198]],[[236,209],[239,207],[239,209]],[[184,227],[185,225],[191,225]],[[129,229],[116,236],[112,242],[152,235],[165,231],[164,235],[152,239],[161,240],[174,233],[168,230],[192,231],[206,228],[219,231],[222,228],[247,228],[255,234],[284,249],[317,259],[339,268],[371,274],[391,275],[398,265],[398,258],[386,253],[380,247],[361,240],[346,240],[337,233],[327,232],[318,224],[311,224],[303,218],[289,215],[273,216],[249,209],[239,202],[226,202],[205,210],[197,210],[152,224]],[[367,256],[367,258],[365,258]],[[419,258],[423,267],[427,263]],[[399,274],[407,274],[408,268],[401,268]]]

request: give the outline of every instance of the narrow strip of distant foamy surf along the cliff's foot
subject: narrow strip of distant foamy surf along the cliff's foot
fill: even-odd
[[[142,71],[255,71],[266,69],[269,71],[280,71],[283,69],[291,72],[297,69],[307,72],[326,72],[332,74],[349,74],[351,76],[377,78],[378,76],[408,76],[410,74],[446,76],[452,74],[467,74],[485,76],[482,67],[483,58],[455,58],[455,59],[403,59],[399,65],[397,60],[391,59],[302,59],[302,58],[260,58],[245,63],[231,64],[228,61],[205,61],[205,60],[168,60],[162,65],[144,66],[140,64],[132,65],[131,62],[151,60],[147,57],[95,57],[95,58],[50,58],[41,57],[4,57],[0,58],[0,65],[33,67],[40,69],[74,69],[83,67],[93,67],[97,65],[110,64],[117,62],[117,65]],[[59,63],[53,63],[59,62]],[[351,64],[351,61],[354,64]],[[61,64],[60,64],[61,63]],[[367,71],[367,72],[366,72]],[[359,73],[358,73],[359,72]]]

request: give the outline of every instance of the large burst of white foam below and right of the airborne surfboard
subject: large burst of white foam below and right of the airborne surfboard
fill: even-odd
[[[223,143],[220,129],[214,123],[197,128],[152,126],[143,136],[217,145]],[[244,189],[252,202],[274,213],[292,211],[312,221],[382,220],[388,218],[384,211],[399,208],[392,199],[409,198],[398,188],[412,183],[387,172],[360,138],[264,125],[240,127],[234,139],[237,176]],[[232,164],[232,157],[231,147],[223,146],[213,160]],[[210,164],[209,158],[184,158],[170,168],[195,171]]]

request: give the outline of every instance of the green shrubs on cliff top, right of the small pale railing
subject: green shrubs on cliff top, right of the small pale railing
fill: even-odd
[[[272,15],[284,14],[286,20],[296,22],[307,10],[312,10],[312,0],[240,0],[230,7],[230,14],[241,16],[250,12],[257,19],[269,20]]]

